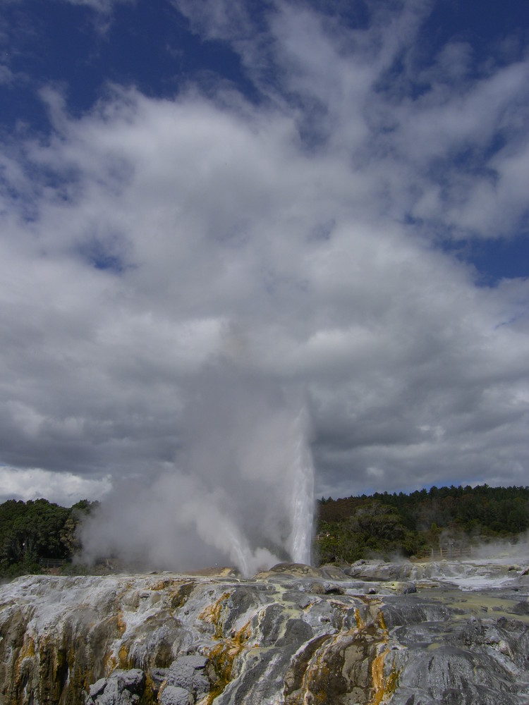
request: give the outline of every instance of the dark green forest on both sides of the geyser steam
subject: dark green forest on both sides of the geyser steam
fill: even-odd
[[[96,506],[81,500],[65,508],[46,499],[0,504],[0,577],[73,570],[81,548],[78,527]],[[529,487],[484,484],[322,498],[316,503],[314,561],[463,556],[487,541],[516,543],[528,529]]]

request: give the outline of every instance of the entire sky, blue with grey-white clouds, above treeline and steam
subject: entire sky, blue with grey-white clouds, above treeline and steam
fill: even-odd
[[[0,0],[0,501],[528,484],[528,125],[519,0]]]

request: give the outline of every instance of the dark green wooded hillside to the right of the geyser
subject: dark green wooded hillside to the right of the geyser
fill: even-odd
[[[411,494],[317,503],[315,553],[320,563],[370,556],[461,555],[482,541],[517,541],[529,529],[529,487],[432,487]]]

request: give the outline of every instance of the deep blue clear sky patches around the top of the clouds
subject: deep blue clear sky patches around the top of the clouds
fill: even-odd
[[[390,24],[399,8],[404,13],[407,6],[418,23],[414,42],[396,49],[374,82],[375,90],[387,94],[390,102],[391,99],[400,104],[406,100],[418,101],[432,94],[432,71],[444,72],[442,83],[446,90],[451,87],[454,94],[463,96],[465,89],[484,80],[492,71],[501,73],[502,68],[523,63],[529,8],[519,2],[509,1],[501,7],[501,12],[492,2],[457,1],[415,6],[412,3],[391,6],[387,2],[295,3],[291,8],[300,13],[312,11],[322,22],[339,24],[351,35],[355,32],[368,35],[377,16],[387,17]],[[273,3],[246,3],[243,11],[232,9],[231,15],[226,14],[224,27],[216,25],[221,11],[207,2],[197,3],[193,8],[185,3],[152,4],[146,0],[8,0],[4,2],[0,25],[3,50],[0,121],[6,139],[20,134],[20,130],[40,137],[49,135],[53,127],[40,94],[49,87],[61,94],[68,114],[77,117],[104,100],[111,85],[134,87],[145,96],[170,100],[190,87],[211,94],[220,85],[229,84],[263,109],[270,99],[278,97],[292,106],[300,101],[303,104],[300,94],[281,90],[281,66],[263,39],[267,22],[274,13],[279,14],[278,8]],[[391,8],[394,8],[392,18]],[[245,65],[241,31],[246,32],[245,45],[263,44],[259,71],[255,66]],[[370,54],[365,59],[369,61]],[[440,74],[436,76],[439,78]],[[271,96],[270,90],[276,95]],[[322,137],[318,133],[318,114],[311,115],[318,106],[317,99],[312,99],[314,104],[305,106],[307,115],[302,118],[305,131],[300,130],[308,143]],[[322,102],[318,107],[325,110]],[[520,106],[517,107],[519,110]],[[523,132],[520,125],[518,131]],[[444,160],[463,172],[489,168],[493,178],[493,169],[487,167],[487,162],[493,161],[491,157],[508,140],[506,125],[498,124],[487,135],[487,144],[480,144],[479,148],[458,145],[444,157],[438,155],[436,163],[430,165],[437,171],[434,180],[442,185],[449,175],[450,168],[443,168]],[[526,209],[521,208],[518,215],[511,228],[502,231],[497,226],[486,242],[473,229],[458,233],[456,247],[452,249],[460,259],[475,266],[487,285],[494,285],[501,278],[526,274]],[[411,213],[404,217],[414,221]],[[451,233],[441,229],[436,234],[438,244],[450,250]]]

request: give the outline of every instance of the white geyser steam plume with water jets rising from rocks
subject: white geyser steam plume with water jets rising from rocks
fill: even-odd
[[[121,479],[81,530],[82,560],[146,570],[310,563],[314,467],[303,391],[228,362],[179,389],[166,470]]]

